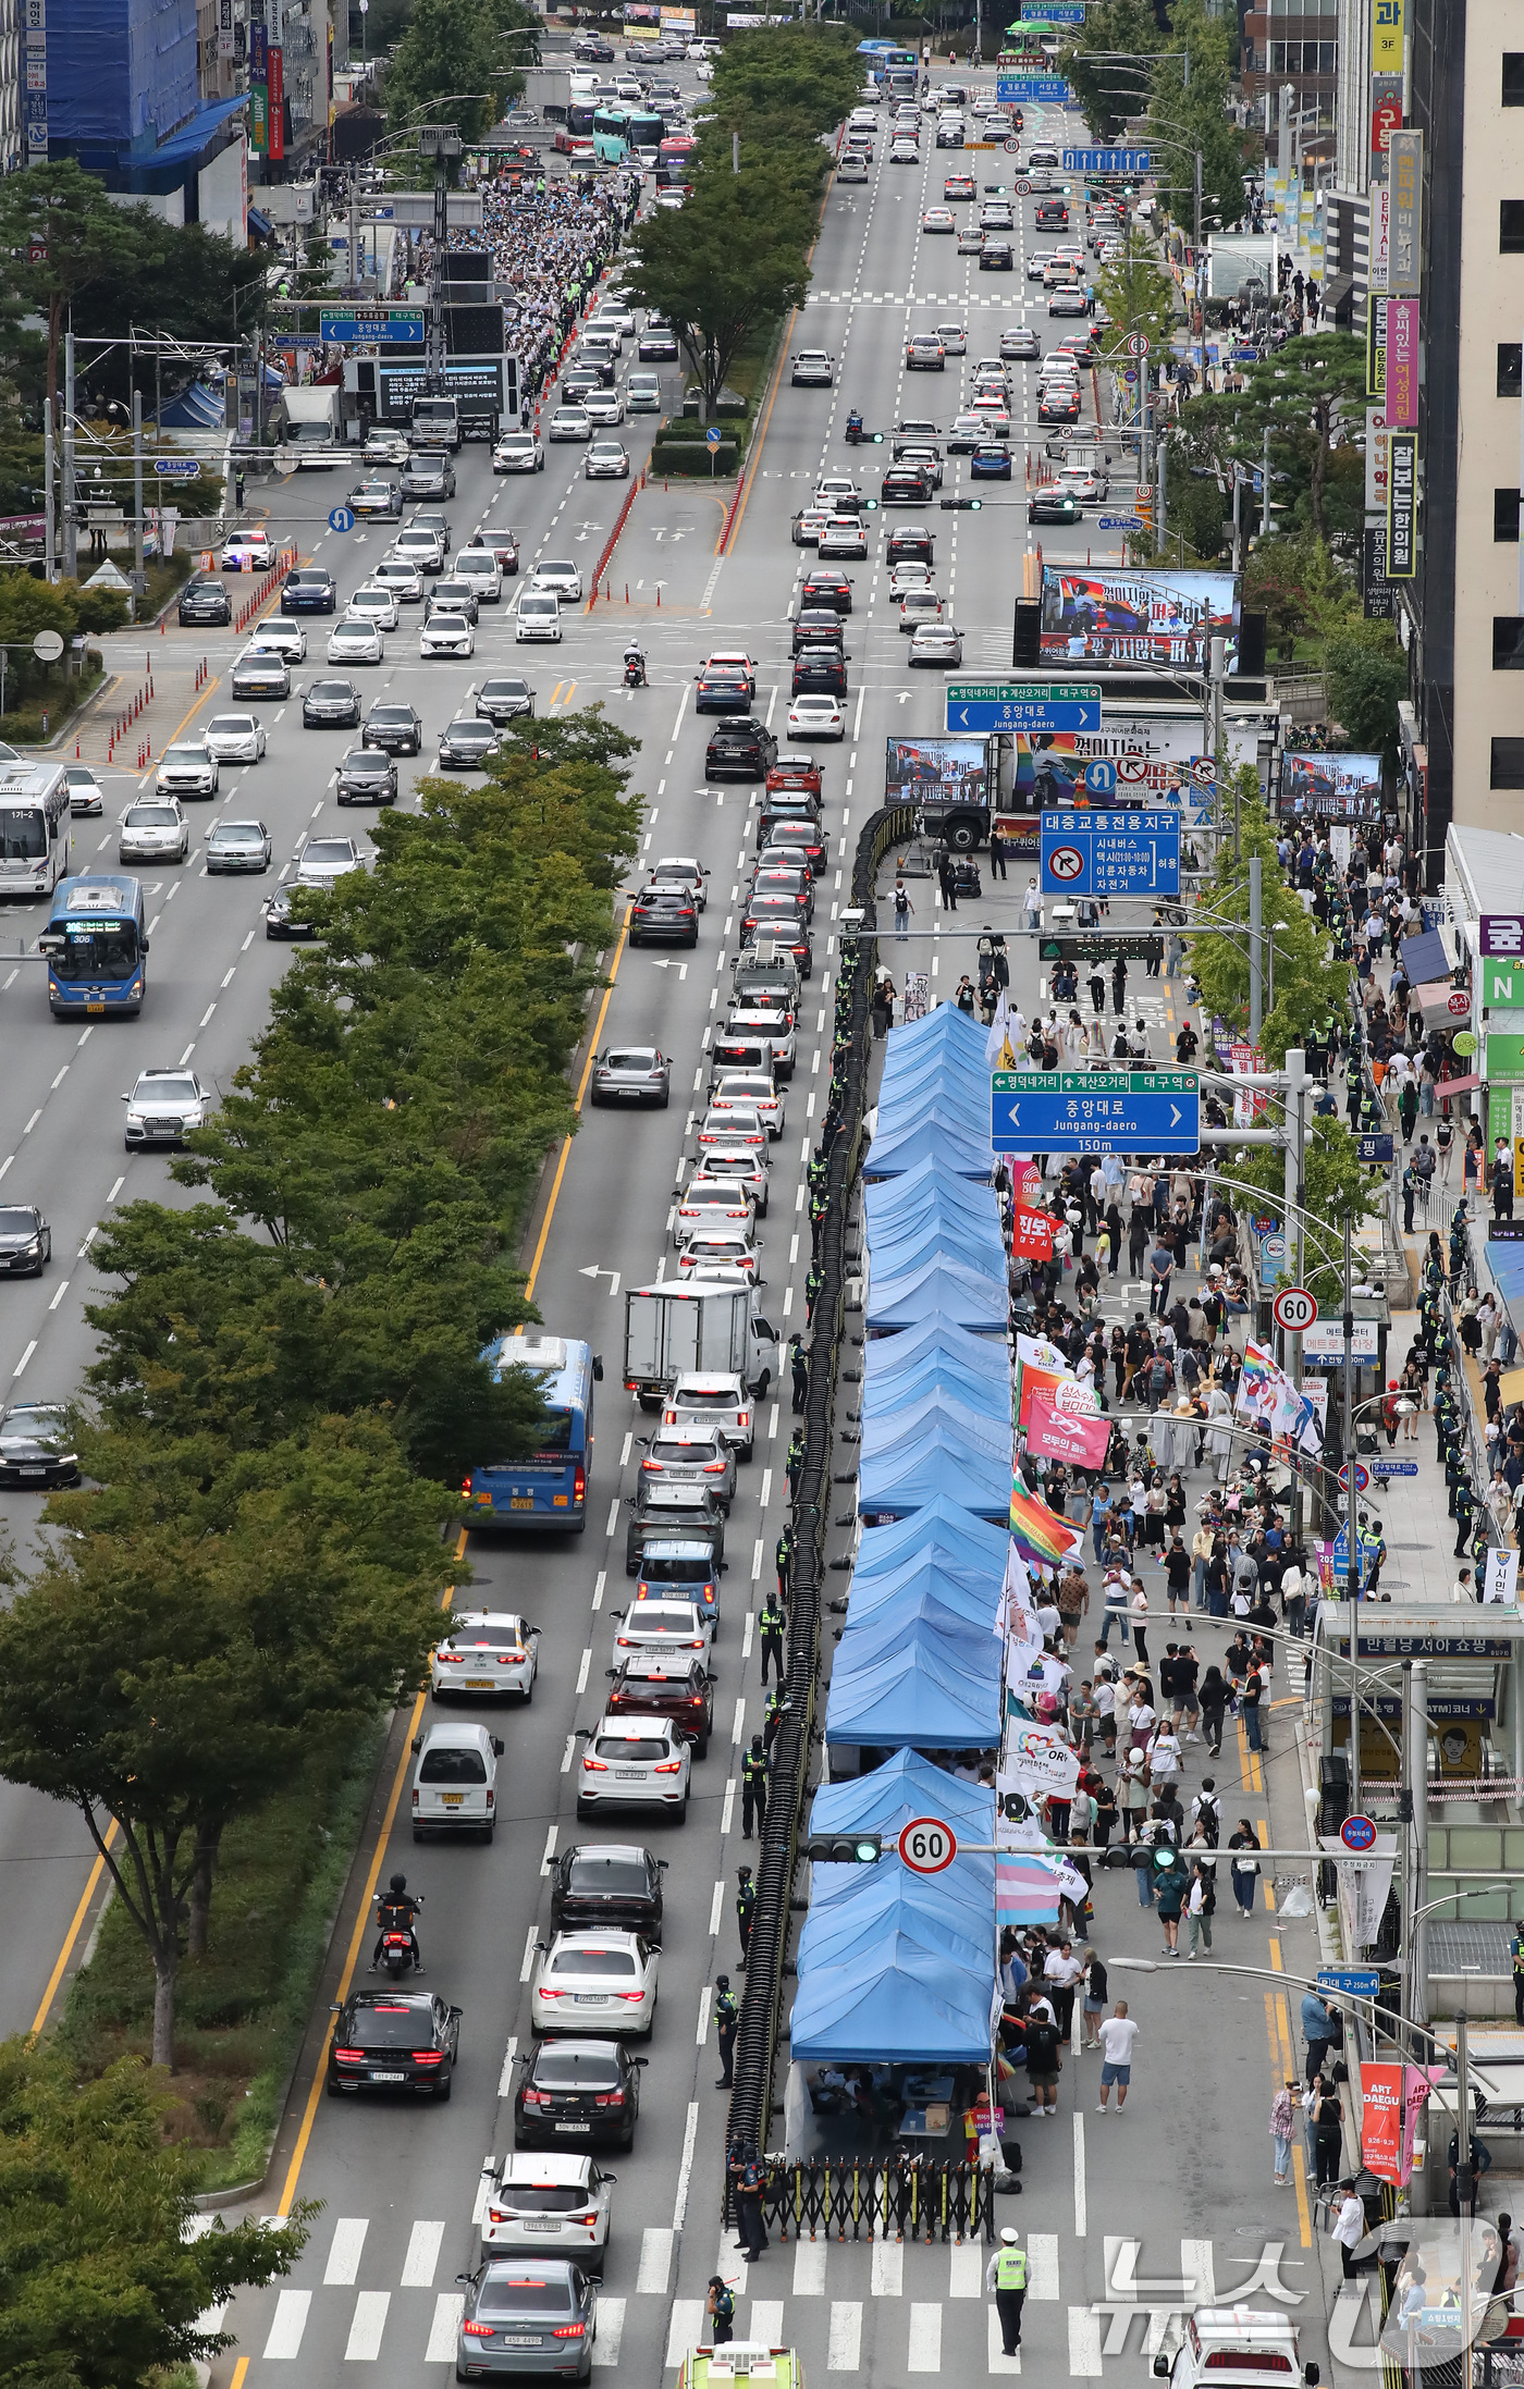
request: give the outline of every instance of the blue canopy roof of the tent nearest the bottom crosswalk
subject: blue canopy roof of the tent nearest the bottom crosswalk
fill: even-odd
[[[953,1966],[905,1933],[800,1978],[791,2016],[795,2064],[989,2064],[989,1978]]]

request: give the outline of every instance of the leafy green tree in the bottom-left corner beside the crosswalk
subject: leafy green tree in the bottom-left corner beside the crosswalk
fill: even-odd
[[[198,2329],[287,2274],[315,2212],[189,2236],[198,2160],[162,2141],[165,2090],[124,2057],[72,2081],[55,2047],[0,2043],[0,2382],[131,2389],[232,2341]]]

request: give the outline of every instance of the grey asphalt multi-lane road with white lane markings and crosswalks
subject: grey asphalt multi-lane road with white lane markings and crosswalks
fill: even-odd
[[[504,604],[483,609],[473,662],[420,662],[416,614],[404,614],[387,643],[385,667],[365,674],[368,690],[394,688],[411,698],[428,733],[444,726],[471,683],[490,669],[528,669],[542,714],[604,702],[643,743],[635,786],[647,798],[645,855],[700,855],[712,879],[695,953],[631,953],[621,946],[612,958],[607,1037],[655,1039],[674,1056],[671,1111],[640,1118],[585,1113],[554,1202],[530,1238],[533,1295],[547,1326],[554,1333],[588,1335],[607,1359],[607,1378],[585,1536],[471,1543],[485,1596],[494,1605],[523,1610],[542,1627],[535,1703],[499,1720],[506,1739],[506,1801],[499,1792],[499,1813],[506,1808],[509,1830],[499,1832],[492,1849],[416,1849],[406,1820],[392,1823],[392,1794],[404,1780],[406,1737],[413,1727],[413,1718],[404,1713],[380,1785],[380,1799],[392,1801],[389,1830],[382,1847],[368,1849],[356,1868],[282,2124],[277,2162],[256,2200],[260,2210],[275,2212],[294,2198],[313,2198],[320,2200],[320,2217],[311,2248],[287,2284],[234,2301],[227,2329],[236,2334],[236,2351],[220,2360],[220,2384],[244,2389],[251,2370],[258,2389],[272,2389],[294,2379],[296,2367],[303,2379],[337,2382],[356,2377],[351,2365],[385,2365],[389,2375],[416,2375],[423,2365],[432,2379],[447,2377],[459,2313],[456,2274],[475,2262],[483,2162],[511,2145],[514,2062],[528,2045],[526,1980],[530,1945],[547,1926],[547,1868],[552,1854],[578,1837],[626,1835],[623,1825],[578,1828],[573,1818],[576,1730],[597,1718],[612,1660],[612,1610],[621,1605],[626,1586],[619,1519],[638,1462],[633,1436],[645,1424],[619,1383],[623,1304],[616,1290],[652,1278],[664,1257],[669,1266],[669,1209],[686,1113],[698,1104],[707,1077],[707,1032],[724,1018],[736,913],[755,850],[752,791],[705,781],[707,724],[693,714],[693,674],[709,647],[750,645],[760,662],[757,710],[781,733],[788,705],[788,616],[807,561],[791,545],[788,518],[812,492],[822,468],[855,471],[865,490],[874,492],[877,473],[889,461],[886,449],[846,447],[848,409],[858,404],[867,423],[881,428],[898,416],[927,413],[946,428],[958,411],[960,375],[972,373],[982,356],[996,354],[1001,330],[1032,323],[1046,344],[1046,303],[1025,280],[1025,256],[1037,241],[1032,201],[1018,205],[1013,275],[979,272],[977,258],[955,256],[951,239],[924,237],[920,229],[922,208],[941,201],[944,172],[967,165],[982,184],[1008,186],[1010,158],[998,151],[967,158],[939,153],[929,134],[922,148],[920,167],[879,162],[865,186],[834,186],[826,198],[815,294],[791,339],[836,354],[836,387],[793,389],[781,377],[724,557],[717,540],[731,492],[707,492],[700,485],[664,490],[652,480],[635,497],[609,566],[614,602],[590,612],[569,609],[561,647],[514,647],[506,602],[514,583],[506,583]],[[948,358],[944,377],[905,380],[908,332],[953,318],[967,325],[967,356]],[[1027,440],[1034,449],[1041,442],[1030,368],[1015,366],[1013,382],[1015,480],[982,485],[984,506],[977,516],[929,511],[936,583],[965,631],[970,671],[1010,664],[1010,602],[1020,592],[1022,554],[1032,540],[1022,449]],[[640,463],[647,452],[645,420],[626,423],[623,437]],[[468,540],[478,523],[506,521],[521,530],[526,566],[535,557],[557,554],[592,564],[626,487],[585,483],[580,466],[580,449],[552,447],[542,475],[494,483],[485,454],[466,449],[459,499],[449,509],[456,542]],[[963,461],[948,461],[944,497],[967,487],[965,471]],[[294,535],[303,559],[330,564],[344,592],[382,554],[385,533],[375,528],[365,540],[361,533],[327,533],[332,495],[327,483],[275,485],[272,530]],[[783,1331],[803,1321],[803,1163],[829,1070],[826,1022],[836,970],[831,922],[850,872],[850,846],[881,800],[884,738],[941,729],[941,678],[908,671],[908,640],[886,597],[881,545],[898,518],[872,516],[869,559],[853,566],[848,738],[841,748],[829,748],[824,760],[831,855],[819,884],[817,975],[805,989],[798,1073],[788,1087],[786,1132],[774,1149],[772,1209],[764,1223],[764,1309]],[[1082,557],[1087,547],[1096,559],[1113,552],[1094,528],[1046,540],[1049,554]],[[650,688],[635,693],[626,693],[619,676],[631,628],[650,657]],[[311,624],[308,674],[322,662],[322,624]],[[177,633],[158,643],[160,652],[174,643]],[[184,633],[179,645],[205,652],[215,674],[191,707],[189,729],[225,698],[227,669],[241,643]],[[213,812],[258,812],[289,872],[303,836],[354,829],[356,819],[363,831],[363,817],[339,815],[332,803],[332,769],[349,743],[346,733],[303,731],[294,700],[270,707],[268,724],[268,760],[225,774]],[[404,791],[430,760],[425,748],[420,767],[404,767]],[[131,781],[112,781],[112,798],[127,800],[131,788]],[[91,1355],[84,1304],[96,1292],[88,1264],[96,1223],[112,1204],[141,1194],[182,1199],[170,1190],[160,1156],[129,1159],[122,1151],[119,1089],[148,1063],[184,1058],[225,1085],[248,1054],[265,1020],[270,987],[287,960],[284,946],[265,944],[263,936],[265,889],[246,879],[217,879],[213,886],[201,867],[203,812],[196,824],[191,860],[150,882],[153,979],[141,1022],[112,1022],[84,1034],[60,1030],[48,1018],[38,965],[5,965],[12,972],[5,984],[12,1061],[0,1094],[0,1163],[7,1194],[36,1199],[48,1211],[57,1254],[41,1283],[5,1290],[0,1378],[17,1371],[17,1393],[67,1395],[79,1386]],[[110,858],[110,807],[105,824],[76,824],[76,834],[81,860],[88,862],[93,848]],[[967,915],[960,925],[939,922],[932,913],[932,884],[920,882],[920,889],[924,893],[915,901],[927,920],[917,920],[917,929],[972,932]],[[1013,908],[1015,896],[1013,877],[1010,889],[1001,891],[1001,905]],[[917,951],[917,960],[924,951]],[[1030,1008],[1034,984],[1018,991]],[[647,1835],[669,1861],[662,2002],[635,2148],[614,2160],[614,2241],[595,2360],[600,2367],[621,2365],[631,2379],[662,2379],[664,2365],[698,2336],[705,2281],[721,2270],[738,2291],[741,2334],[786,2336],[815,2370],[893,2382],[905,2370],[934,2372],[951,2363],[987,2367],[991,2351],[994,2370],[1015,2370],[998,2360],[998,2339],[987,2339],[977,2250],[905,2250],[898,2243],[826,2248],[824,2241],[805,2241],[798,2253],[793,2246],[774,2248],[750,2281],[743,2258],[729,2246],[731,2234],[724,2234],[721,2250],[726,2098],[714,2088],[709,1995],[717,1971],[736,1971],[733,1887],[736,1866],[745,1859],[738,1749],[762,1713],[750,1613],[769,1582],[772,1543],[783,1519],[786,1443],[788,1405],[783,1400],[779,1414],[779,1405],[767,1402],[755,1460],[741,1472],[729,1531],[731,1572],[714,1658],[714,1744],[695,1768],[688,1823]],[[12,1498],[5,1503],[5,1519],[24,1541],[33,1510],[24,1498]],[[1264,1806],[1264,1792],[1259,1799]],[[631,1832],[640,1837],[638,1825]],[[356,1952],[361,1969],[368,1952],[363,1916],[358,1923],[356,1916],[373,1863],[382,1871],[406,1868],[428,1894],[428,1983],[463,2009],[461,2064],[449,2107],[401,2109],[382,2100],[330,2105],[320,2098],[327,2002],[339,1980],[349,1980]],[[0,1883],[12,1926],[0,1952],[7,2028],[33,2021],[86,1878],[88,1851],[67,1813],[0,1789]],[[1123,1880],[1125,1894],[1116,1880],[1104,1890],[1104,1926],[1108,1935],[1127,1930],[1137,1937],[1130,1921],[1137,1916],[1132,1885],[1130,1878]],[[1147,1933],[1137,1947],[1149,1947],[1151,1940]],[[1249,1935],[1240,1940],[1247,1945]],[[1259,1926],[1252,1940],[1264,1964]],[[1249,1954],[1247,1947],[1242,1954]],[[1288,1964],[1295,1966],[1295,1959]],[[1202,2014],[1216,2004],[1204,1985],[1197,2004]],[[1240,2145],[1223,2145],[1221,2138],[1197,2133],[1199,2119],[1180,2076],[1173,2090],[1161,2081],[1156,2100],[1135,2100],[1125,2121],[1084,2117],[1080,2109],[1094,2105],[1094,2090],[1077,2057],[1065,2076],[1061,2121],[1044,2124],[1041,2131],[1037,2124],[1025,2126],[1030,2195],[1010,2212],[1034,2231],[1027,2363],[1058,2363],[1077,2375],[1101,2372],[1108,2324],[1089,2313],[1089,2303],[1111,2284],[1116,2246],[1127,2236],[1147,2243],[1139,2281],[1151,2274],[1166,2284],[1190,2279],[1194,2286],[1216,2279],[1223,2293],[1242,2286],[1242,2274],[1225,2265],[1225,2250],[1235,2250],[1230,2238],[1218,2238],[1213,2274],[1213,2212],[1242,2191],[1249,2167],[1259,2162],[1266,2176],[1266,2195],[1259,2200],[1264,2234],[1278,2231],[1288,2243],[1292,2291],[1311,2289],[1297,2212],[1278,2215],[1276,2207],[1290,2203],[1268,2195],[1268,2145],[1256,2112],[1268,2102],[1259,1995],[1247,2009],[1235,2004],[1233,2019],[1249,2026],[1237,2052],[1252,2086],[1247,2112],[1237,2117],[1254,2143],[1249,2150],[1242,2148],[1242,2136]],[[1154,2066],[1166,2074],[1166,2016],[1159,2014],[1139,2045],[1139,2074]],[[1199,2047],[1211,2062],[1211,2035]],[[1273,2028],[1268,2050],[1280,2062]],[[1228,2064],[1228,2050],[1218,2055]],[[1087,2124],[1132,2141],[1127,2162],[1101,2167],[1099,2179],[1092,2179],[1094,2131],[1087,2157]],[[1240,2207],[1240,2219],[1261,2229],[1254,2205]],[[1104,2234],[1113,2236],[1106,2255]],[[1249,2248],[1245,2238],[1237,2253],[1254,2262],[1259,2243]],[[1104,2272],[1104,2262],[1111,2270]],[[1149,2303],[1144,2291],[1137,2296]],[[1185,2303],[1185,2293],[1173,2293],[1173,2303]],[[1120,2346],[1118,2336],[1118,2353]],[[1137,2334],[1127,2346],[1125,2360],[1137,2367]]]

